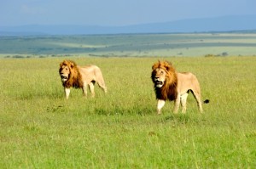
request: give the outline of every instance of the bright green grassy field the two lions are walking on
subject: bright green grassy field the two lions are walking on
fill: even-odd
[[[73,89],[64,99],[59,63],[102,68],[96,98]],[[187,114],[166,103],[156,115],[150,80],[157,59],[192,71],[204,114],[189,96]],[[256,58],[0,59],[2,168],[254,168]]]

